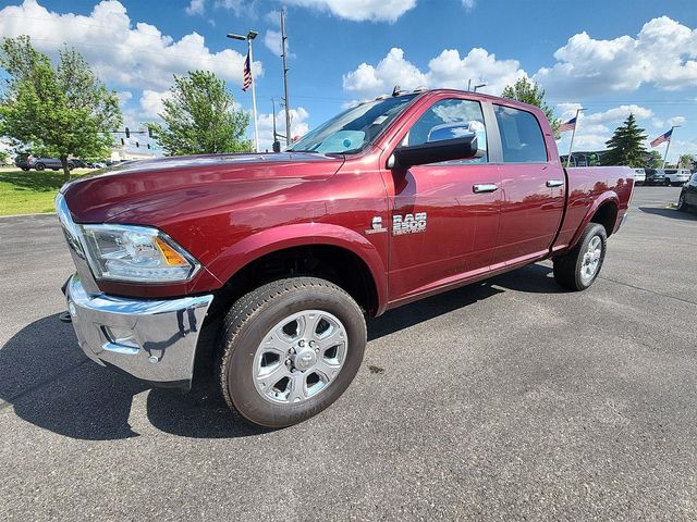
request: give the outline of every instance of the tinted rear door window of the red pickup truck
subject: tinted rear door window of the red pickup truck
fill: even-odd
[[[505,163],[547,162],[545,137],[534,114],[496,104],[493,112],[501,132],[501,146]]]

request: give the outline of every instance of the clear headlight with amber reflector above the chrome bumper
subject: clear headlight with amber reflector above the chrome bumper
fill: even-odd
[[[171,283],[189,279],[196,260],[157,228],[80,225],[87,260],[98,279]]]

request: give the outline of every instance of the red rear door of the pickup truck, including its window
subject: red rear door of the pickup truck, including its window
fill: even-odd
[[[493,268],[547,253],[562,220],[565,176],[531,112],[493,104],[501,137],[501,221]],[[551,139],[551,138],[550,138]]]

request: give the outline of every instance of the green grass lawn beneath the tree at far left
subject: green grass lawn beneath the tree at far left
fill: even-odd
[[[75,170],[74,176],[90,172]],[[0,170],[0,215],[54,212],[53,198],[63,185],[61,171]]]

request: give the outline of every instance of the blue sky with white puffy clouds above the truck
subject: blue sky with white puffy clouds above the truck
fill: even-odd
[[[293,136],[395,85],[466,89],[472,82],[500,95],[525,76],[542,86],[558,117],[584,108],[575,150],[604,148],[632,112],[646,129],[647,148],[681,125],[669,161],[697,153],[695,0],[0,1],[0,36],[28,34],[51,57],[64,44],[77,49],[119,94],[133,129],[158,119],[172,75],[194,69],[224,78],[235,101],[250,110],[252,96],[241,89],[246,45],[225,34],[255,29],[264,150],[272,141],[271,99],[283,96],[281,9]],[[278,124],[284,132],[280,111]],[[559,141],[561,153],[568,138]]]

